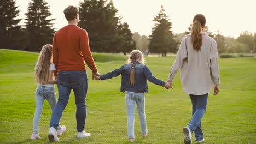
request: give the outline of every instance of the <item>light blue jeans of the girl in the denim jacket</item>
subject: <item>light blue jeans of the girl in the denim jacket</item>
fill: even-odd
[[[141,133],[146,134],[147,123],[145,115],[145,97],[144,93],[126,92],[126,109],[127,109],[127,127],[128,137],[134,138],[134,121],[135,121],[135,103],[139,115],[139,123],[141,124]]]

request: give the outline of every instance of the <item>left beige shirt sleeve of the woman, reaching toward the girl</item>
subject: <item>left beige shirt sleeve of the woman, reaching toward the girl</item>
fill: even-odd
[[[187,52],[187,46],[186,46],[186,39],[187,37],[184,37],[181,41],[181,45],[179,46],[179,51],[176,56],[175,62],[173,63],[170,74],[168,76],[168,81],[173,81],[174,76],[177,74],[179,68],[182,67],[184,60],[188,58],[188,52]]]

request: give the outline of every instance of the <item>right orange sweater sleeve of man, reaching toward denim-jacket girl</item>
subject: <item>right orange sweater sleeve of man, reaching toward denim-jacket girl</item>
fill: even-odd
[[[80,50],[82,51],[85,63],[88,65],[93,73],[97,73],[98,70],[96,68],[94,58],[92,57],[89,46],[88,34],[85,30],[83,31],[80,38]]]

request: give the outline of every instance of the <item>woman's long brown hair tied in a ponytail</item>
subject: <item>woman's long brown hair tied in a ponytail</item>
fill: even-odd
[[[193,49],[199,51],[202,46],[202,31],[205,28],[206,19],[202,14],[198,14],[193,19],[191,27],[191,38]]]

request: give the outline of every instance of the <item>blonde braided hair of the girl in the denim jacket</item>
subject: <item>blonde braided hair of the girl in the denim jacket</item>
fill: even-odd
[[[131,83],[131,85],[135,85],[136,84],[135,62],[138,59],[139,59],[139,62],[141,62],[143,64],[145,63],[142,52],[140,50],[133,50],[131,52],[131,55],[130,55],[129,59],[127,60],[127,62],[131,63],[131,66],[132,66],[131,73],[130,73],[130,83]]]

